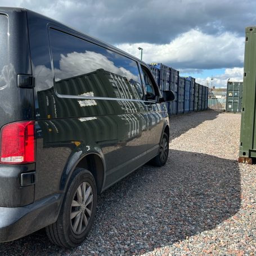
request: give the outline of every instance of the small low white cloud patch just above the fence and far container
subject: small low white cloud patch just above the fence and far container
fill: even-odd
[[[224,74],[213,76],[213,86],[216,87],[227,87],[227,80],[230,79],[232,82],[242,82],[244,68],[232,68],[226,69]],[[196,82],[203,84],[204,86],[211,86],[211,78],[196,78]]]

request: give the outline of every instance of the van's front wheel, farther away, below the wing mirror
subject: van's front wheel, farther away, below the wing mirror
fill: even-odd
[[[169,136],[167,135],[167,133],[164,132],[163,136],[161,137],[158,155],[156,155],[155,158],[153,158],[150,161],[150,164],[158,167],[165,165],[168,159],[168,154],[169,154]]]

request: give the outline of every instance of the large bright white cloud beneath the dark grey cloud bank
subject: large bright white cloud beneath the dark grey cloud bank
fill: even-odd
[[[225,32],[217,36],[192,29],[169,44],[119,44],[117,46],[143,61],[162,62],[176,69],[214,69],[241,66],[244,60],[244,38]]]

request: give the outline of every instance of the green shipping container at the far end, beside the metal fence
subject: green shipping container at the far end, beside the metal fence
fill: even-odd
[[[242,82],[227,82],[227,112],[240,113],[242,111],[242,85]]]

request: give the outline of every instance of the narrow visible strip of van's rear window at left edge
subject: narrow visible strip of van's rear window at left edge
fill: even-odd
[[[0,14],[0,88],[8,83],[8,17]]]

